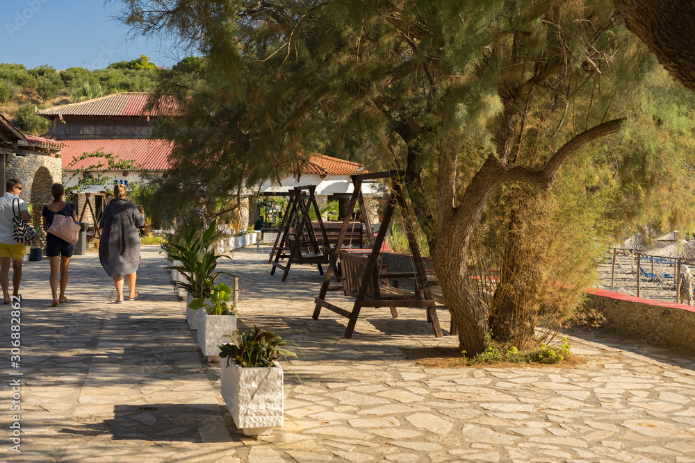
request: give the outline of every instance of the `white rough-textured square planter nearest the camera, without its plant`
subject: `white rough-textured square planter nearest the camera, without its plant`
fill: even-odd
[[[270,434],[283,425],[282,367],[241,368],[222,360],[222,398],[237,428],[247,436]]]

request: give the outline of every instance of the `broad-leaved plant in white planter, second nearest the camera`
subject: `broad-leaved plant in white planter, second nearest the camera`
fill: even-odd
[[[188,305],[199,313],[198,344],[203,355],[216,357],[220,352],[220,343],[229,332],[236,330],[236,310],[229,304],[231,288],[224,283],[211,285],[204,296],[191,301]]]

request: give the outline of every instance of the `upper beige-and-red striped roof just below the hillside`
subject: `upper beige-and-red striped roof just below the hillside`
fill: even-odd
[[[95,98],[80,103],[70,103],[67,105],[53,106],[40,110],[36,114],[52,119],[53,116],[155,116],[164,112],[172,114],[176,108],[175,104],[169,105],[167,110],[154,112],[145,111],[149,93],[145,92],[126,92],[115,93],[101,98]]]

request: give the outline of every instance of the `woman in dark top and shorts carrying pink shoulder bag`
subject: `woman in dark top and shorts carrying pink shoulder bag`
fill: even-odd
[[[45,205],[43,212],[41,212],[44,230],[48,231],[50,226],[53,225],[53,219],[56,215],[65,215],[65,217],[72,217],[74,221],[77,221],[77,210],[75,205],[63,201],[64,193],[65,187],[60,185],[60,183],[54,183],[51,187],[53,202],[49,205]],[[51,305],[54,307],[67,301],[65,297],[65,287],[67,287],[67,264],[70,264],[70,258],[72,258],[74,253],[74,244],[70,244],[65,241],[65,239],[59,238],[51,233],[46,234],[46,255],[51,262],[51,276],[49,277],[51,292],[53,293],[53,304]],[[62,258],[60,258],[61,255],[63,256]],[[60,262],[58,262],[58,258],[60,258]],[[58,297],[58,267],[60,267],[60,297]]]

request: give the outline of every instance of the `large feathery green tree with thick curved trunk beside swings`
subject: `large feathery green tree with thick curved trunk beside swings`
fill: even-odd
[[[480,255],[532,266],[531,278],[502,273],[514,291],[494,296],[512,318],[525,301],[526,325],[553,305],[576,306],[579,291],[543,296],[548,283],[571,288],[590,274],[593,254],[573,246],[690,220],[692,96],[611,0],[197,4],[175,0],[162,13],[157,0],[123,2],[135,31],[166,31],[202,57],[161,74],[153,102],[174,95],[183,114],[160,128],[174,141],[162,190],[178,201],[172,210],[202,192],[229,196],[243,182],[297,174],[305,151],[403,169],[471,353],[484,351],[490,319],[462,284],[476,239],[490,248]],[[567,246],[550,233],[564,228]],[[523,246],[512,246],[516,237]]]

